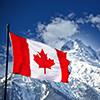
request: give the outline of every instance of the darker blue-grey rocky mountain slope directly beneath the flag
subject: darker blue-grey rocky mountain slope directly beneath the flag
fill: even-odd
[[[2,87],[4,87],[3,83]],[[2,91],[1,98],[3,98],[3,89],[0,89]],[[72,92],[63,83],[38,80],[21,75],[13,75],[8,79],[7,100],[75,100],[74,98]]]

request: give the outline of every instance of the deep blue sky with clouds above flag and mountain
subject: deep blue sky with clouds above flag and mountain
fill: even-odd
[[[0,72],[7,23],[11,32],[54,48],[78,38],[100,49],[100,0],[0,0]]]

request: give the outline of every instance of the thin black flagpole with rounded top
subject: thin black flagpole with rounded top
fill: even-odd
[[[5,73],[5,92],[4,92],[4,100],[6,100],[7,93],[7,74],[8,74],[8,54],[9,54],[9,23],[7,24],[7,56],[6,56],[6,73]]]

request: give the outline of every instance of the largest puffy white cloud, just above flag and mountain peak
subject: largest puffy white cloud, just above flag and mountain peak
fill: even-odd
[[[47,25],[39,23],[37,31],[46,44],[56,48],[60,48],[64,40],[79,32],[75,21],[59,17],[52,19]]]

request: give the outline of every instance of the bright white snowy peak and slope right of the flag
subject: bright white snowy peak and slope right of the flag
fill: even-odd
[[[67,51],[67,59],[71,63],[68,85],[76,98],[99,100],[100,60],[97,52],[78,39],[67,42],[61,50]]]

